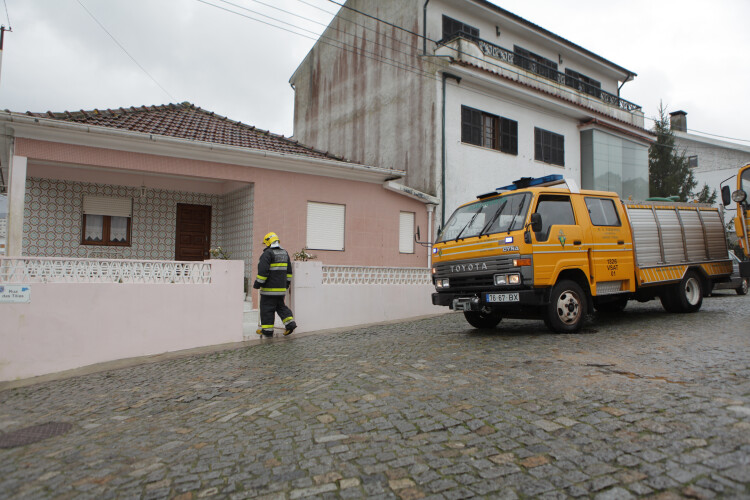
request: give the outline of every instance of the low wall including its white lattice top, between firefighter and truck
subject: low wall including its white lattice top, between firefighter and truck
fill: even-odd
[[[294,262],[291,306],[300,332],[439,314],[426,268]]]

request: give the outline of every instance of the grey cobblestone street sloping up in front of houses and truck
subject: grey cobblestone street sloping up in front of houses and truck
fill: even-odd
[[[2,498],[749,498],[750,299],[449,314],[0,392]],[[2,441],[2,439],[0,439]]]

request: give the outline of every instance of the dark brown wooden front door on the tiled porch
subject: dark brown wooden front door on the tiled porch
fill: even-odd
[[[211,248],[211,207],[177,204],[175,260],[205,260]]]

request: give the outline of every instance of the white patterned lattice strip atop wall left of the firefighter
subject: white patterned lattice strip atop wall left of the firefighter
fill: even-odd
[[[0,283],[211,283],[210,262],[0,257]]]

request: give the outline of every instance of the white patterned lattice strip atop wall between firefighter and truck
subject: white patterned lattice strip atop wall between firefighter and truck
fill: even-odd
[[[323,266],[324,285],[430,285],[426,267]]]

